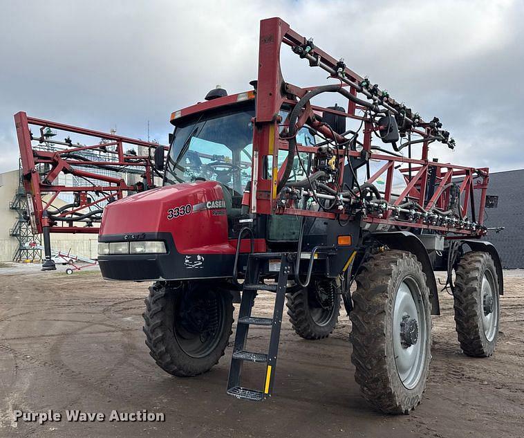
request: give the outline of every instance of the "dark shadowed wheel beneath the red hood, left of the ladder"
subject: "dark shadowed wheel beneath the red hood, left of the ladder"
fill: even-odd
[[[165,372],[197,376],[223,356],[232,334],[232,295],[204,282],[149,287],[143,331],[149,354]]]

